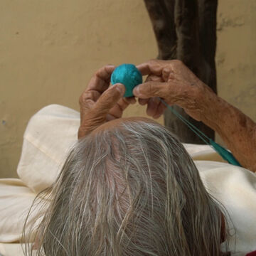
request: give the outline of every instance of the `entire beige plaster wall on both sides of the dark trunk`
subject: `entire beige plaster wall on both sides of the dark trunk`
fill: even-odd
[[[220,0],[216,58],[220,95],[253,119],[255,11],[255,0]],[[78,110],[97,68],[142,63],[156,54],[142,0],[1,0],[0,177],[16,176],[33,113],[52,103]],[[144,107],[124,113],[132,115],[145,115]]]

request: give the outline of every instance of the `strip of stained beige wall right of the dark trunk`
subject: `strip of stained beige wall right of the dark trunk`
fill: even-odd
[[[255,25],[255,0],[219,0],[218,94],[256,121]]]

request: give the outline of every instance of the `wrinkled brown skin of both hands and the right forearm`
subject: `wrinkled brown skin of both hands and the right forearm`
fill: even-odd
[[[137,68],[148,76],[133,93],[139,104],[147,105],[149,116],[158,118],[164,113],[159,97],[169,105],[182,107],[191,117],[218,132],[243,167],[256,171],[256,154],[252,154],[256,151],[256,124],[250,117],[218,97],[180,60],[149,60]],[[113,65],[98,70],[80,96],[78,138],[105,122],[119,119],[128,105],[136,102],[134,97],[122,97],[124,85],[109,87],[113,70]]]

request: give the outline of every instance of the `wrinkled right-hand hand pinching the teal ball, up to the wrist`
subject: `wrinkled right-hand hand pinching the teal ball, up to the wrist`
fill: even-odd
[[[199,98],[201,92],[210,88],[180,60],[149,60],[137,68],[148,77],[133,93],[139,97],[139,104],[147,104],[149,116],[159,118],[164,113],[166,107],[159,100],[161,97],[169,105],[182,107],[194,119],[201,119]]]

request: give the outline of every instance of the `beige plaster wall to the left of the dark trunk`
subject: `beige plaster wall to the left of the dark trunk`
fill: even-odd
[[[78,110],[102,65],[156,56],[143,1],[0,1],[0,176],[15,176],[29,117],[51,103]],[[131,107],[125,115],[145,114]]]

